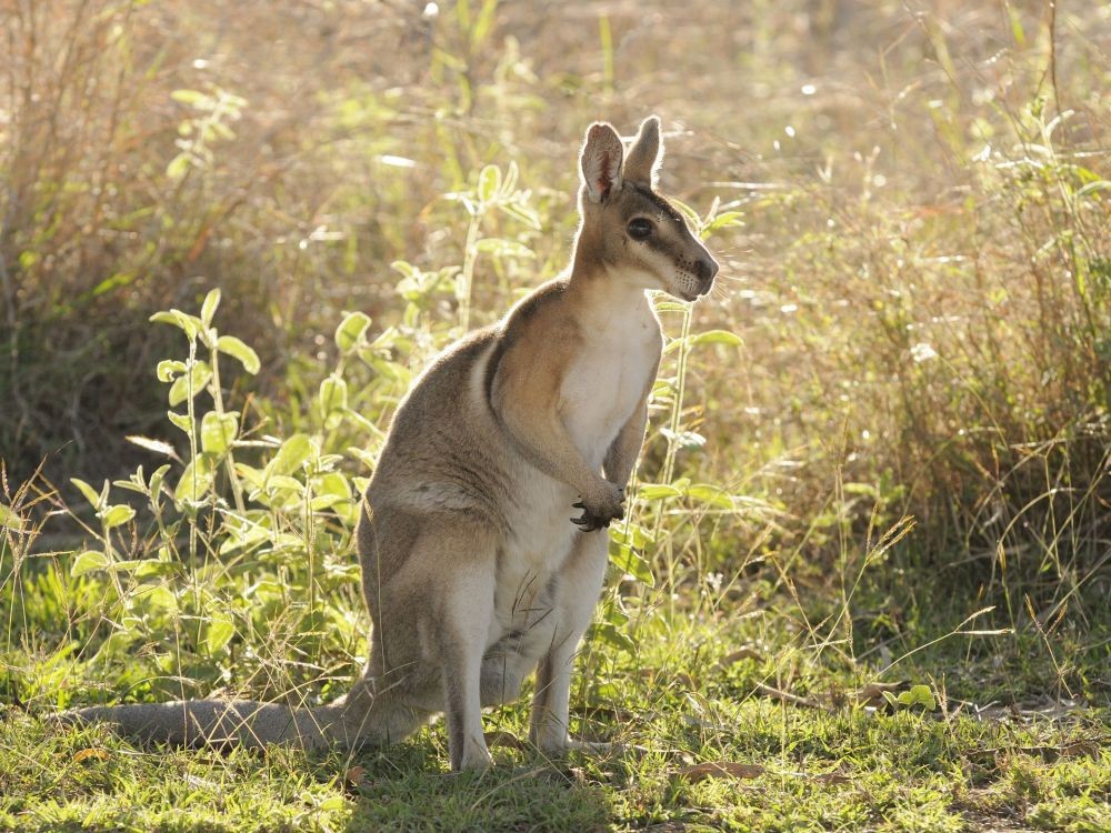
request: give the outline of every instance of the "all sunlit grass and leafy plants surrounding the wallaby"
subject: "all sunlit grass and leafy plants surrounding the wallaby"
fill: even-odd
[[[56,6],[0,10],[0,827],[1111,829],[1105,7]],[[346,690],[398,399],[652,111],[722,272],[579,661],[619,751],[52,725]]]

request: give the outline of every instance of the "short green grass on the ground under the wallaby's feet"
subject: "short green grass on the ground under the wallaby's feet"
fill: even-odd
[[[974,699],[970,680],[950,681],[933,712],[861,704],[854,693],[874,668],[792,644],[783,624],[770,612],[684,620],[637,660],[594,645],[574,714],[614,750],[550,761],[503,743],[482,774],[446,771],[440,726],[356,755],[220,754],[136,749],[102,729],[59,730],[9,709],[0,829],[1111,830],[1105,701],[992,705]],[[967,662],[957,642],[883,679],[992,673],[990,661]],[[745,655],[722,664],[738,645]],[[771,691],[783,689],[807,704]],[[982,716],[975,705],[987,706]],[[488,715],[488,730],[520,737],[526,720],[523,705],[506,707]],[[684,774],[705,763],[760,769]]]

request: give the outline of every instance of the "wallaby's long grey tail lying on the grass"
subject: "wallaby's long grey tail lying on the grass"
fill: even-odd
[[[286,744],[304,750],[382,745],[402,740],[423,722],[411,709],[386,699],[374,702],[358,685],[347,697],[312,709],[252,700],[179,700],[91,706],[59,717],[67,723],[104,723],[148,743],[254,749]]]

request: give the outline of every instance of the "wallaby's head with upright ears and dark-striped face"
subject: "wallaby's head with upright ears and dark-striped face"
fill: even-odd
[[[577,259],[603,265],[614,280],[693,301],[710,291],[718,262],[682,213],[657,193],[662,159],[660,120],[654,116],[640,126],[628,157],[612,127],[590,126],[579,157],[582,228]]]

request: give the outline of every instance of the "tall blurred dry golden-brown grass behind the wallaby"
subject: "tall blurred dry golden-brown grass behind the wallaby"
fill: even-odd
[[[224,380],[238,425],[372,451],[449,337],[565,263],[587,124],[657,112],[661,190],[728,215],[708,227],[724,291],[693,328],[742,344],[692,353],[684,434],[658,409],[642,474],[670,451],[669,474],[751,506],[684,492],[672,521],[701,534],[669,566],[848,604],[878,553],[880,635],[909,615],[883,586],[924,574],[927,606],[955,585],[1010,625],[1105,618],[1107,4],[13,0],[0,18],[12,484],[42,463],[76,499],[70,476],[162,462],[128,435],[186,455],[154,375],[181,333],[148,318],[212,288],[260,359]],[[368,350],[342,367],[352,311]],[[337,362],[363,423],[320,404]],[[913,534],[878,546],[907,515]]]

